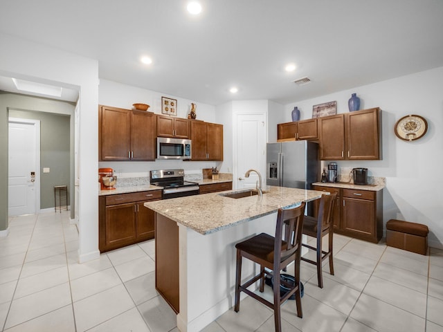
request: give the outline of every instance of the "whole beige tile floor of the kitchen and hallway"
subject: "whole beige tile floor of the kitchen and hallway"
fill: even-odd
[[[154,241],[77,264],[78,231],[67,212],[13,217],[9,229],[0,238],[1,331],[178,331],[154,289]],[[336,273],[324,273],[323,289],[302,262],[304,316],[285,303],[283,331],[443,332],[443,250],[422,256],[335,234],[334,251]],[[273,329],[272,311],[246,297],[239,313],[231,309],[203,331]]]

